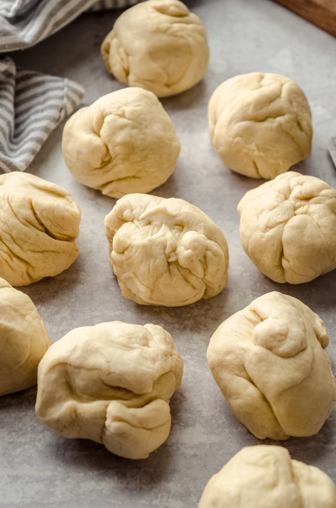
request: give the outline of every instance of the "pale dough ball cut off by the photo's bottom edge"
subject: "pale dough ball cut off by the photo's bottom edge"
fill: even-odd
[[[208,482],[198,508],[335,508],[336,487],[321,469],[280,446],[243,448]]]

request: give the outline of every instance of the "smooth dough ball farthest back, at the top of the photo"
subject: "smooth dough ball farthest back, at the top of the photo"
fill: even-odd
[[[183,92],[208,66],[207,34],[178,0],[147,0],[123,12],[102,44],[107,70],[158,97]]]

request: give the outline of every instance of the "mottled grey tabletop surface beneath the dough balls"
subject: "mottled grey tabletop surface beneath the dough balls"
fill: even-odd
[[[196,506],[208,479],[243,446],[260,444],[228,409],[206,361],[209,339],[229,315],[263,293],[295,296],[324,320],[336,363],[336,271],[302,285],[276,284],[245,255],[237,204],[261,181],[232,173],[215,154],[207,131],[207,103],[223,80],[265,71],[297,80],[314,119],[313,154],[297,171],[336,187],[326,144],[336,135],[336,41],[271,0],[190,0],[205,22],[211,59],[203,82],[162,100],[181,140],[174,175],[153,194],[183,198],[222,228],[229,245],[229,283],[210,300],[181,308],[145,307],[122,298],[109,267],[104,217],[115,201],[79,184],[61,153],[62,126],[29,168],[73,194],[83,218],[80,256],[57,277],[22,288],[37,305],[53,341],[70,329],[104,321],[162,325],[185,362],[181,389],[171,401],[169,438],[146,460],[130,461],[94,442],[65,439],[40,423],[36,388],[0,399],[0,506],[5,508]],[[68,76],[86,88],[90,102],[122,85],[105,71],[99,45],[119,12],[88,13],[30,50],[13,54],[18,65]],[[0,353],[1,354],[1,353]],[[336,480],[336,413],[311,438],[279,442],[292,457]],[[267,442],[267,441],[263,441]],[[268,440],[271,443],[270,440]]]

